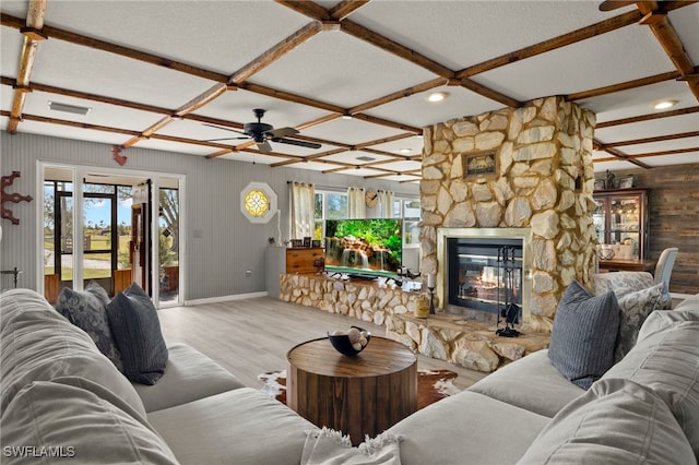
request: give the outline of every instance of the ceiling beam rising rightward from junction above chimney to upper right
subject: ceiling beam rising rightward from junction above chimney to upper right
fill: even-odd
[[[486,71],[494,70],[496,68],[503,67],[506,64],[514,63],[525,58],[532,58],[537,55],[545,53],[547,51],[555,50],[557,48],[566,47],[579,43],[584,39],[589,39],[612,31],[616,31],[620,27],[626,27],[631,24],[636,24],[641,19],[641,13],[633,10],[628,13],[620,14],[608,20],[601,21],[590,26],[585,26],[568,34],[560,35],[538,44],[534,44],[529,47],[521,48],[509,53],[501,55],[482,63],[474,64],[463,70],[457,71],[455,76],[459,79],[471,78],[476,74],[484,73]]]

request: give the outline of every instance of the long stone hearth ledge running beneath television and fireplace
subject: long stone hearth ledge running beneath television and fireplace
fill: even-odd
[[[386,335],[427,357],[491,372],[548,347],[549,333],[521,327],[520,337],[500,337],[494,325],[462,315],[415,318],[419,293],[324,275],[282,274],[280,299],[386,326]]]

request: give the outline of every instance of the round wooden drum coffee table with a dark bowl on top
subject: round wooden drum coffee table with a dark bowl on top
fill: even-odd
[[[288,406],[350,434],[355,445],[417,409],[417,357],[395,341],[372,336],[359,355],[345,357],[322,337],[292,348],[286,359]]]

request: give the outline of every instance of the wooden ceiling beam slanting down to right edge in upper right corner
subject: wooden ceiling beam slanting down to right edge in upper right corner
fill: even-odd
[[[666,10],[659,7],[657,2],[638,2],[638,9],[644,15],[645,23],[660,45],[670,57],[671,61],[679,72],[682,78],[687,78],[686,82],[695,98],[699,100],[699,76],[696,75],[695,65],[685,50],[679,35],[667,17]]]

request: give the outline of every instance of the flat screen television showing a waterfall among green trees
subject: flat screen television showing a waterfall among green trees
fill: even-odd
[[[328,219],[325,270],[394,277],[401,267],[402,231],[402,219]]]

